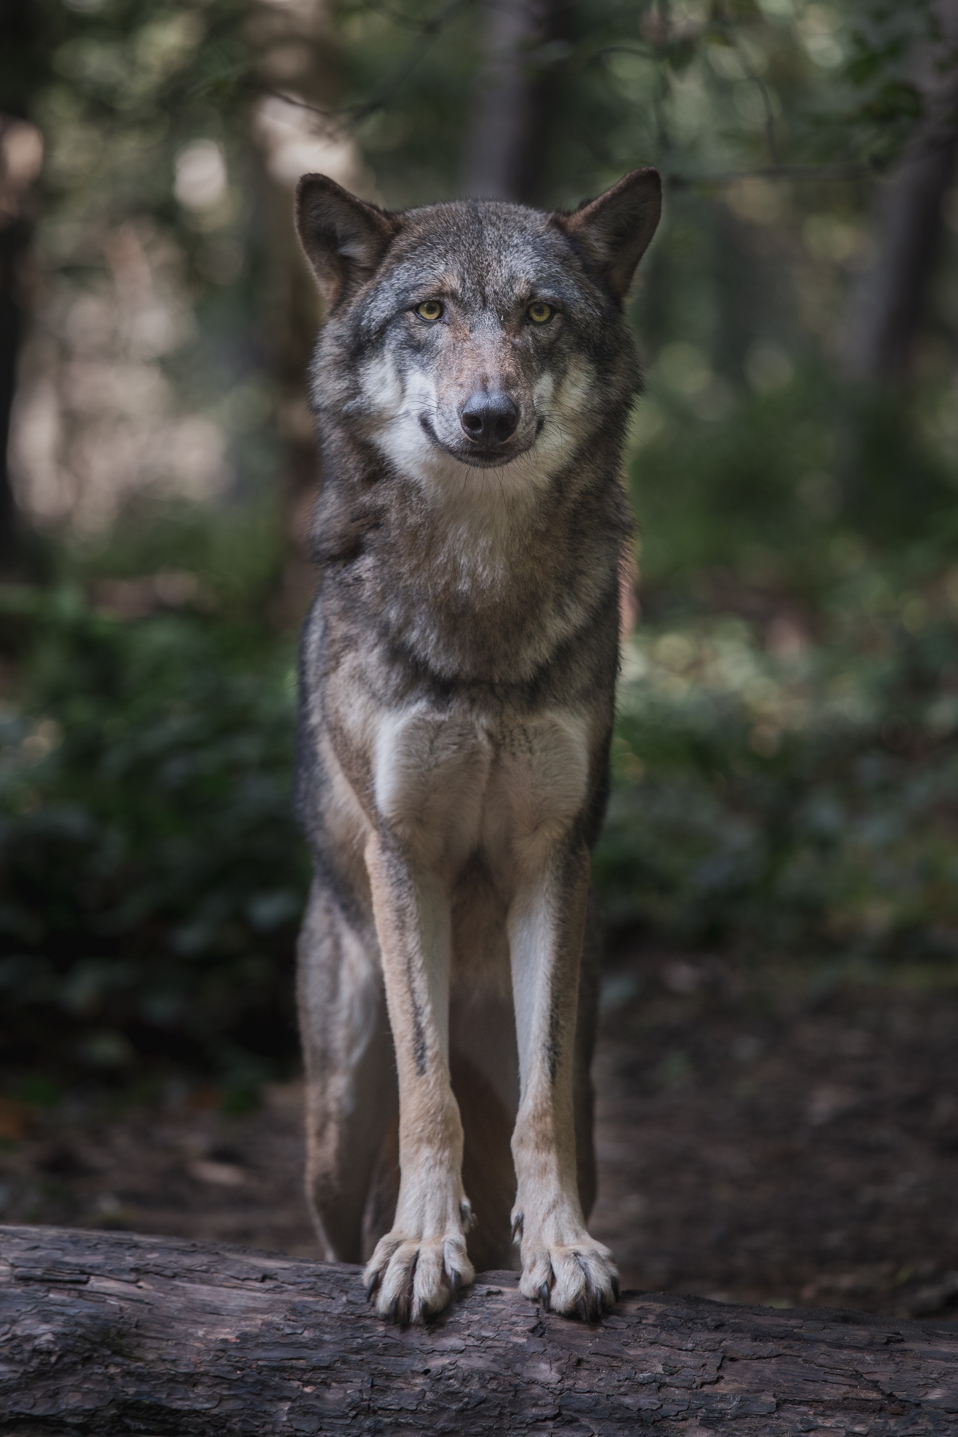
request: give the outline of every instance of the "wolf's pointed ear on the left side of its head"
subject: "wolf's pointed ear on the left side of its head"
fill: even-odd
[[[369,279],[399,228],[398,216],[358,200],[327,175],[303,175],[296,187],[296,233],[330,309]]]

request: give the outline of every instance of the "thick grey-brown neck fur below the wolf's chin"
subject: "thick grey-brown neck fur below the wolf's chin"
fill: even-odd
[[[379,625],[438,675],[524,681],[615,586],[625,496],[609,502],[600,474],[511,491],[507,474],[475,476],[458,503],[391,486],[363,586]]]

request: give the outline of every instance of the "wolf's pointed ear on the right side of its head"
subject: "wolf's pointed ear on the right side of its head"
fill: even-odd
[[[661,213],[658,170],[633,170],[597,200],[580,204],[575,214],[557,214],[556,223],[576,241],[586,269],[625,299]]]

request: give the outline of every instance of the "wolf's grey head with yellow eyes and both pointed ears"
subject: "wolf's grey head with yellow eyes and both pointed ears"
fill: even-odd
[[[603,424],[618,443],[638,381],[622,300],[659,213],[655,170],[573,214],[394,214],[304,175],[297,230],[336,356],[317,368],[317,407],[417,479],[547,476]]]

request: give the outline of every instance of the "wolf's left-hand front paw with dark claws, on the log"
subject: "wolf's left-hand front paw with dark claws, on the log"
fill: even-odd
[[[388,1322],[425,1322],[441,1312],[460,1288],[468,1286],[475,1273],[465,1256],[461,1233],[442,1237],[415,1237],[386,1233],[366,1263],[363,1282],[369,1302]]]

